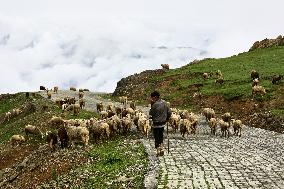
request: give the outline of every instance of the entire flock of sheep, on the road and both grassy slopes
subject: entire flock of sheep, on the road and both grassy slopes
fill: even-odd
[[[169,69],[168,64],[161,65],[163,69]],[[213,74],[204,73],[203,78],[206,80]],[[220,70],[216,72],[217,79],[216,83],[222,84],[224,82],[223,74]],[[272,77],[272,84],[279,82],[283,76],[274,75]],[[255,70],[251,71],[252,79],[252,95],[256,94],[264,95],[266,94],[265,88],[259,85],[259,73]],[[43,86],[40,86],[41,90],[46,90],[47,97],[50,99],[52,92],[57,93],[58,87],[54,87],[53,91],[48,90]],[[71,91],[76,91],[75,87],[70,87]],[[62,109],[62,111],[73,111],[74,115],[79,115],[80,110],[85,107],[86,100],[84,99],[84,91],[89,91],[88,89],[79,89],[79,100],[76,104],[75,97],[65,97],[64,99],[58,99],[55,103]],[[85,146],[88,146],[89,136],[92,135],[94,140],[106,138],[116,134],[129,132],[133,125],[137,127],[137,130],[142,132],[146,137],[148,137],[151,128],[152,120],[146,115],[141,109],[136,109],[136,104],[133,101],[128,101],[127,97],[119,97],[121,106],[114,106],[113,104],[105,105],[102,102],[96,104],[97,112],[100,115],[100,119],[93,117],[91,119],[63,119],[61,117],[52,117],[48,124],[52,128],[56,128],[56,132],[47,131],[45,133],[48,144],[51,149],[54,150],[54,145],[60,140],[61,147],[67,147],[69,142],[74,145],[76,140],[80,140]],[[170,106],[170,103],[167,102]],[[169,119],[169,126],[172,127],[173,131],[180,131],[182,137],[185,134],[195,134],[197,125],[200,121],[200,115],[196,115],[187,110],[178,110],[176,108],[171,108],[172,115]],[[19,109],[13,109],[11,112],[7,112],[5,118],[9,120],[11,117],[21,113]],[[216,118],[215,112],[212,108],[204,108],[202,114],[205,116],[208,126],[211,129],[211,134],[215,135],[217,131],[217,126],[219,125],[221,130],[221,136],[229,137],[229,128],[233,126],[234,134],[241,136],[243,124],[241,120],[232,119],[229,112],[221,116],[221,118]],[[25,128],[26,136],[28,134],[39,135],[44,138],[44,134],[40,129],[33,125],[26,125]],[[22,135],[13,135],[11,137],[12,145],[16,143],[21,143],[25,141],[25,137]]]

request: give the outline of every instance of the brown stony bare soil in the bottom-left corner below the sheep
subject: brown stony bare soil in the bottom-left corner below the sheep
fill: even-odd
[[[13,162],[16,164],[4,169],[0,177],[0,188],[36,188],[87,162],[85,152],[80,146],[51,152],[47,145],[42,145],[22,161]]]

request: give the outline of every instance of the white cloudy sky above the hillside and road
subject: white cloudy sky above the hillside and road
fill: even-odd
[[[146,69],[226,57],[284,34],[283,0],[0,0],[0,93],[113,92]],[[163,48],[162,48],[163,47]]]

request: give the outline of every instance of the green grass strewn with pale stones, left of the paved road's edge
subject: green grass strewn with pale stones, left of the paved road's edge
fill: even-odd
[[[70,188],[144,188],[144,177],[148,169],[145,148],[129,134],[116,136],[91,146],[84,155],[90,163],[78,165],[67,174],[54,176],[49,183],[57,186],[63,181],[70,181]],[[78,182],[77,182],[78,181]]]

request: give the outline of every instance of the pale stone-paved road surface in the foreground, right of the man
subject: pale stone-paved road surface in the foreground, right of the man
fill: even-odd
[[[211,136],[205,122],[197,131],[186,139],[169,134],[158,188],[284,188],[283,134],[245,127],[242,137],[225,139]]]

